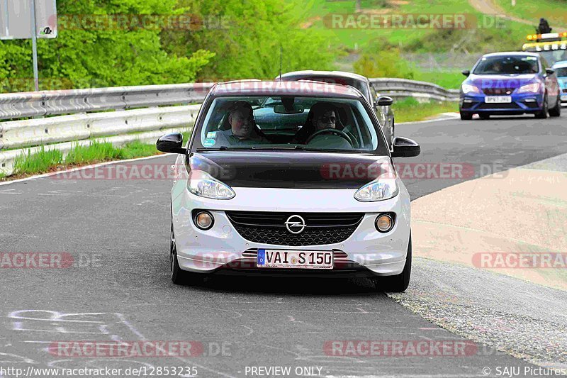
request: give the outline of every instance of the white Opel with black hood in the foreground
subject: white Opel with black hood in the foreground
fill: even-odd
[[[269,133],[258,126],[266,123]],[[408,287],[410,196],[392,157],[417,156],[420,146],[398,137],[390,151],[357,89],[216,84],[186,146],[173,133],[157,149],[179,154],[174,283],[210,274],[308,274],[368,277],[380,291]]]

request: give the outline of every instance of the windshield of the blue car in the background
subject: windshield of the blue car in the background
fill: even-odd
[[[482,57],[473,74],[537,74],[537,57],[527,55]]]

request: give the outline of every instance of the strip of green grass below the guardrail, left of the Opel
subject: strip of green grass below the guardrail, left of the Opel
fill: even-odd
[[[155,145],[140,141],[128,143],[123,147],[114,147],[108,142],[94,142],[88,146],[77,145],[66,157],[59,150],[42,149],[35,154],[22,155],[14,162],[14,176],[41,174],[50,172],[56,167],[86,165],[109,160],[133,159],[156,155]],[[0,179],[6,179],[6,174],[0,173]]]

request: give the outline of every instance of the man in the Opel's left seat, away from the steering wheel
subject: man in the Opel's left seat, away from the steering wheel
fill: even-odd
[[[217,142],[221,145],[256,145],[269,143],[261,135],[256,122],[254,111],[247,101],[237,101],[228,111],[228,130],[218,132]]]

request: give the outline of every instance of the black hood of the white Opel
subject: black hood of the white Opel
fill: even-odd
[[[395,177],[388,156],[305,151],[211,151],[188,157],[188,170],[230,187],[359,189],[381,174]]]

